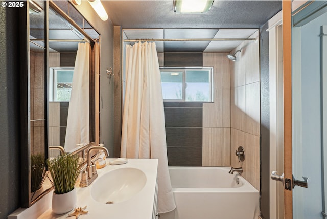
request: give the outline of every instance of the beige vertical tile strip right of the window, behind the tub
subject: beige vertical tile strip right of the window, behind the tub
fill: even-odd
[[[227,53],[203,53],[214,67],[214,102],[203,103],[202,166],[230,166],[230,73]]]

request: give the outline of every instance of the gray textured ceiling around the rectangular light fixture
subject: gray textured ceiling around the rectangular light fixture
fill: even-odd
[[[282,1],[215,0],[206,14],[176,14],[173,0],[102,3],[128,39],[248,38],[282,9]],[[230,52],[241,42],[166,41],[156,46],[158,52]]]

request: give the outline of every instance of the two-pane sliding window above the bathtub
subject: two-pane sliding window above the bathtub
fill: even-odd
[[[165,101],[213,102],[213,68],[160,68]]]

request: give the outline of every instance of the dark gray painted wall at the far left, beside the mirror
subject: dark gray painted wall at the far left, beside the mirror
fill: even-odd
[[[1,219],[21,204],[18,14],[18,9],[0,8]]]

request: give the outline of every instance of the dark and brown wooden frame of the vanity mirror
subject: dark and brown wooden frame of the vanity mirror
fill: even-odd
[[[89,41],[92,48],[91,53],[94,54],[94,45],[96,40],[91,38],[81,27],[79,27],[75,21],[69,17],[65,12],[63,12],[53,1],[43,1],[44,2],[44,156],[45,159],[49,157],[49,10],[50,7],[56,13],[58,13],[61,17],[68,21],[74,28],[80,31]],[[67,1],[70,6],[75,6]],[[69,6],[69,7],[70,7]],[[76,9],[76,8],[75,8]],[[77,9],[76,9],[77,10]],[[50,192],[53,187],[46,189],[39,195],[36,199],[31,201],[31,125],[30,125],[30,19],[29,19],[29,0],[26,1],[26,7],[24,8],[25,13],[19,14],[19,29],[20,35],[22,36],[20,39],[20,60],[21,60],[21,69],[20,69],[20,119],[21,119],[21,207],[28,208],[40,200],[45,194]],[[78,11],[78,10],[77,10]],[[79,11],[78,11],[79,12]],[[80,13],[80,12],[79,12]],[[85,17],[80,13],[80,15],[85,19]],[[85,19],[86,20],[86,19]],[[87,20],[86,20],[87,21]],[[87,21],[88,22],[88,21]],[[89,23],[89,22],[88,22]],[[91,25],[91,23],[89,23]],[[92,26],[92,25],[91,25]],[[93,29],[99,34],[99,41],[101,39],[101,35],[99,31],[97,31],[94,27]],[[100,42],[99,42],[100,49]],[[96,126],[100,125],[99,119],[96,120],[96,105],[99,105],[99,98],[97,98],[99,94],[99,87],[96,86],[95,81],[95,61],[94,55],[92,57],[92,61],[90,63],[90,100],[89,100],[89,112],[90,112],[90,143],[88,145],[79,148],[78,150],[72,152],[73,154],[85,153],[89,147],[97,145],[97,141],[99,141],[99,128]],[[100,62],[99,62],[100,65]],[[96,91],[97,89],[97,91]],[[97,137],[97,135],[99,135]],[[48,169],[47,169],[48,170]]]

